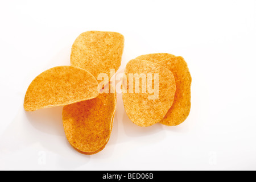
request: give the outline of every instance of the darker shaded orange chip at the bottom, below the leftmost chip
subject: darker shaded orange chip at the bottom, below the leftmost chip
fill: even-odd
[[[108,143],[116,107],[115,93],[100,93],[92,100],[63,107],[68,142],[82,154],[96,154]]]

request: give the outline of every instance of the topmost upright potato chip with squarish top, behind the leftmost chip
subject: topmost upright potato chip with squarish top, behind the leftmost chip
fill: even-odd
[[[71,49],[71,65],[86,69],[94,77],[121,65],[124,47],[123,35],[117,32],[87,31],[80,34]]]

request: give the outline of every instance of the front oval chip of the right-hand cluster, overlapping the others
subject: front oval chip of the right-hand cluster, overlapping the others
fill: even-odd
[[[148,99],[154,94],[142,93],[142,81],[139,84],[139,93],[135,93],[134,82],[129,83],[129,73],[159,74],[159,96],[155,100]],[[154,76],[152,76],[154,78]],[[127,63],[123,80],[127,80],[126,86],[122,86],[123,105],[128,117],[138,126],[151,126],[160,122],[170,109],[175,95],[175,79],[172,72],[159,64],[150,61],[134,59]],[[129,93],[129,87],[133,84],[133,93]],[[148,82],[147,82],[148,84]],[[154,88],[154,79],[152,80]]]

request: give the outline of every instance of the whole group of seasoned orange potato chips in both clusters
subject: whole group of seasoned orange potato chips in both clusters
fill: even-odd
[[[38,75],[28,86],[24,109],[63,106],[63,126],[71,146],[86,155],[100,152],[112,133],[117,104],[110,69],[120,67],[123,48],[124,37],[118,32],[80,34],[71,49],[71,65]],[[122,98],[127,115],[138,126],[179,125],[191,108],[187,63],[170,53],[130,60],[123,73]]]

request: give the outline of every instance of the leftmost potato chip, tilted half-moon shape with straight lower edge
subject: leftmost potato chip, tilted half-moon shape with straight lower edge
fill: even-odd
[[[84,69],[61,66],[44,71],[28,86],[24,109],[63,106],[98,96],[97,80]]]

